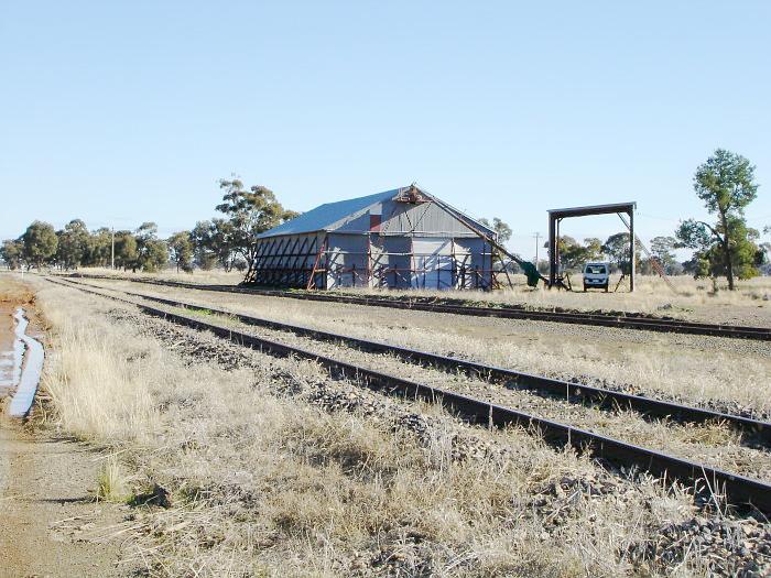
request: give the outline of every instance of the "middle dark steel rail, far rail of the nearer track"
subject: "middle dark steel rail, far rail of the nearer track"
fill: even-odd
[[[76,285],[83,285],[82,283],[72,280],[68,280],[68,282],[74,283]],[[87,286],[93,288],[100,288],[104,291],[113,291],[117,293],[122,293],[124,295],[131,295],[133,297],[139,297],[155,303],[162,303],[172,307],[206,309],[214,314],[232,316],[239,321],[247,325],[254,325],[260,327],[267,327],[269,329],[289,331],[294,335],[311,337],[313,339],[318,340],[344,342],[350,347],[368,352],[390,353],[409,362],[443,368],[453,372],[463,372],[466,375],[478,378],[491,383],[503,383],[508,388],[536,390],[540,392],[547,393],[550,395],[560,396],[563,400],[571,401],[574,403],[591,402],[600,407],[630,408],[636,412],[651,416],[674,417],[684,422],[724,422],[726,424],[729,424],[731,427],[735,427],[736,429],[742,430],[747,434],[750,434],[753,437],[757,437],[764,444],[771,444],[771,423],[763,422],[760,419],[753,419],[740,415],[716,412],[703,407],[694,407],[674,402],[666,402],[653,397],[633,395],[630,393],[623,393],[604,388],[596,388],[583,383],[572,383],[568,381],[546,378],[543,375],[534,375],[532,373],[503,369],[496,366],[489,366],[486,363],[469,361],[466,359],[459,359],[455,357],[432,353],[428,351],[421,351],[416,349],[400,347],[391,343],[384,343],[381,341],[372,341],[369,339],[361,339],[358,337],[334,334],[329,331],[323,331],[319,329],[312,329],[310,327],[274,321],[261,317],[254,317],[251,315],[239,314],[228,309],[209,307],[208,305],[196,305],[193,303],[186,303],[177,299],[169,299],[164,297],[158,297],[154,295],[146,295],[143,293],[133,293],[126,290],[99,287],[95,285]]]

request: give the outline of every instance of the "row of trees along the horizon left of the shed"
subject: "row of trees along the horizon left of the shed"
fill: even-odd
[[[80,219],[73,219],[61,230],[36,220],[18,239],[7,239],[0,258],[12,269],[56,266],[115,266],[124,271],[153,272],[171,261],[177,271],[194,268],[226,271],[251,271],[254,265],[257,236],[294,218],[297,212],[284,209],[272,190],[263,186],[246,188],[238,178],[221,179],[222,201],[216,210],[221,217],[196,222],[189,231],[178,231],[167,239],[158,235],[154,222],[135,230],[102,227],[89,231]]]

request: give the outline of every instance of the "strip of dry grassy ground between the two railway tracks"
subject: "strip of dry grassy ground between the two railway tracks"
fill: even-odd
[[[98,283],[97,283],[98,284]],[[138,291],[135,285],[111,282]],[[455,355],[496,366],[555,378],[580,378],[703,405],[710,400],[771,412],[771,357],[765,343],[705,342],[688,336],[644,334],[607,328],[560,326],[464,317],[447,323],[422,312],[362,308],[285,298],[191,292],[143,286],[140,293],[163,295],[202,307],[226,307],[281,323],[344,332],[415,349]],[[357,314],[360,313],[360,314]],[[546,324],[549,325],[549,324]],[[736,348],[738,349],[735,349]],[[752,384],[749,386],[748,384]]]

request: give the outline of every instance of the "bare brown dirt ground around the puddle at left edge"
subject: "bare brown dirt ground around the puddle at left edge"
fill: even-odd
[[[30,294],[0,277],[0,351],[13,343],[17,306],[31,308]],[[34,315],[32,326],[35,325]],[[4,358],[2,358],[4,359]],[[11,358],[12,359],[12,358]],[[2,367],[8,379],[13,367]],[[3,391],[4,390],[4,391]],[[22,424],[6,415],[10,396],[0,390],[0,578],[124,576],[119,543],[110,527],[118,508],[97,503],[99,455],[87,446]],[[4,397],[4,399],[3,399]]]

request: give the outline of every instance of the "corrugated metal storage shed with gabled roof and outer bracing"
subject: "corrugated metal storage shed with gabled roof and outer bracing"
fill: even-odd
[[[496,237],[410,185],[327,203],[261,233],[248,282],[329,290],[489,290]]]

